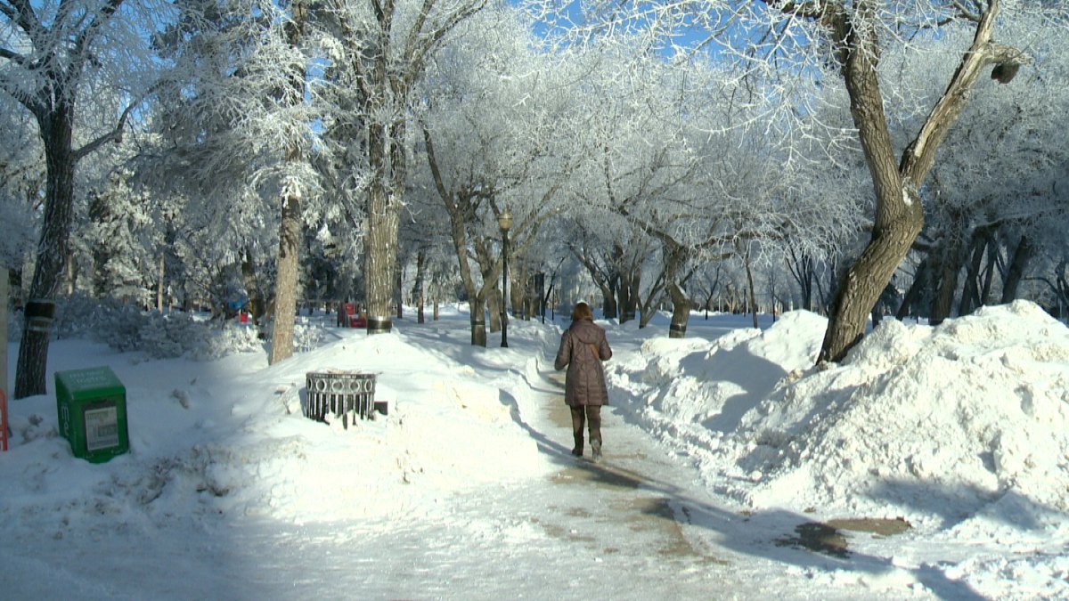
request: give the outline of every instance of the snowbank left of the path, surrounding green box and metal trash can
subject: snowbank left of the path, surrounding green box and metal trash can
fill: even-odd
[[[520,394],[502,390],[513,383],[498,380],[501,370],[450,358],[455,341],[323,332],[335,341],[272,367],[262,354],[145,361],[68,342],[74,365],[50,361],[49,382],[51,370],[84,367],[87,357],[110,364],[127,390],[130,450],[104,464],[76,459],[58,434],[53,395],[13,402],[0,517],[59,537],[103,515],[397,520],[433,513],[455,492],[549,468],[511,418]],[[347,429],[304,417],[306,373],[331,369],[376,373],[375,400],[388,403],[388,415]]]

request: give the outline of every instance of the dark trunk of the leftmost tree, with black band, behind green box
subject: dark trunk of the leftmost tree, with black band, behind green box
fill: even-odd
[[[71,247],[76,164],[71,148],[74,107],[62,99],[60,104],[47,119],[38,119],[47,167],[44,220],[26,304],[22,339],[18,346],[15,399],[44,395],[46,391],[45,373],[56,312],[56,291]]]

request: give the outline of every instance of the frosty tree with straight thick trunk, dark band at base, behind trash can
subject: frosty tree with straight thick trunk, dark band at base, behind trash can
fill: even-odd
[[[486,0],[324,0],[332,42],[327,59],[344,81],[347,102],[363,115],[350,148],[367,160],[365,282],[368,332],[389,332],[398,260],[398,227],[408,172],[407,136],[416,84],[428,62],[459,24]]]

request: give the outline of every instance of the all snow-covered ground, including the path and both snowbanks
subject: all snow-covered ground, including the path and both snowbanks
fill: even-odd
[[[802,311],[601,322],[601,464],[568,453],[558,325],[481,349],[463,307],[370,338],[308,320],[322,342],[270,367],[55,341],[49,395],[10,403],[0,597],[1069,598],[1069,329],[1035,305],[885,321],[826,370]],[[130,450],[92,464],[52,374],[102,365]],[[388,415],[304,417],[328,369],[375,373]],[[802,543],[854,519],[911,527]]]

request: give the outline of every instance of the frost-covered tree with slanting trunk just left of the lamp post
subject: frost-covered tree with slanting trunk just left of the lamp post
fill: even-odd
[[[563,210],[561,190],[583,154],[561,129],[575,126],[582,64],[532,49],[530,34],[509,10],[487,10],[458,31],[435,57],[420,88],[425,170],[420,187],[437,197],[449,219],[461,280],[471,307],[471,343],[485,345],[500,311],[501,232],[509,232],[514,284],[526,281],[526,256],[543,224]],[[515,298],[517,295],[512,294]],[[518,295],[522,299],[523,294]],[[499,306],[498,306],[499,308]]]

